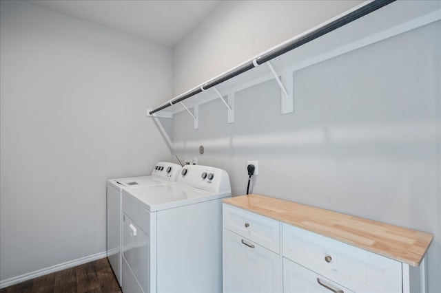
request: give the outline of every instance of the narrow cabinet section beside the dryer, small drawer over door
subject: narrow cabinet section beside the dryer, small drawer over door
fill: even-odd
[[[223,206],[224,292],[282,292],[280,223]]]

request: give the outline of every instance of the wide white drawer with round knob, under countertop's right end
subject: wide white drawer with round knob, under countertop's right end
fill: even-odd
[[[355,292],[402,292],[401,263],[283,224],[283,256]]]

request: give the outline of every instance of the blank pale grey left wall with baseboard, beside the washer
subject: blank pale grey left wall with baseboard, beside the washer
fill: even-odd
[[[172,160],[172,50],[1,2],[0,280],[105,252],[105,180]]]

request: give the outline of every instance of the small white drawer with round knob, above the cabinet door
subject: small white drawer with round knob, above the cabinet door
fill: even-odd
[[[280,252],[279,221],[223,204],[223,226],[260,246]]]

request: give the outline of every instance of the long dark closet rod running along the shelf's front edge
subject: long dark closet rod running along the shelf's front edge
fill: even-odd
[[[248,61],[243,63],[242,65],[235,67],[234,69],[230,70],[229,72],[218,76],[217,78],[214,78],[213,80],[209,80],[204,85],[201,85],[199,87],[195,87],[194,89],[191,89],[190,91],[187,91],[185,94],[181,94],[181,96],[177,96],[176,98],[166,102],[165,104],[157,107],[156,109],[153,109],[150,111],[150,115],[153,113],[156,113],[157,111],[161,111],[167,107],[170,107],[176,102],[182,102],[183,100],[186,100],[187,98],[190,98],[196,94],[201,93],[202,91],[205,91],[206,89],[209,89],[211,87],[214,87],[220,83],[223,83],[226,80],[229,80],[231,78],[234,78],[235,76],[238,76],[239,74],[242,74],[243,72],[247,72],[250,69],[253,69],[254,67],[261,65],[267,61],[270,61],[271,59],[274,59],[282,54],[285,54],[286,52],[289,52],[291,50],[296,49],[296,47],[300,47],[301,45],[305,45],[306,43],[309,43],[310,41],[313,41],[314,39],[317,39],[320,36],[323,36],[324,34],[327,34],[328,32],[332,32],[333,30],[336,30],[343,25],[346,25],[348,23],[351,23],[352,21],[355,21],[357,19],[360,19],[360,17],[364,17],[365,15],[378,10],[382,8],[383,6],[387,6],[388,4],[394,2],[396,0],[375,0],[371,3],[367,3],[367,5],[362,6],[361,8],[358,8],[357,10],[354,10],[352,12],[349,12],[348,14],[345,14],[344,16],[340,17],[339,19],[336,19],[335,21],[331,21],[330,23],[327,23],[326,25],[323,25],[320,28],[317,28],[316,30],[309,32],[308,34],[305,34],[304,36],[301,36],[300,38],[293,39],[292,41],[288,41],[287,43],[284,43],[283,45],[280,45],[278,47],[275,47],[273,50],[270,50],[269,52],[266,52],[262,54],[261,56],[258,56],[257,58],[253,59],[252,61]]]

